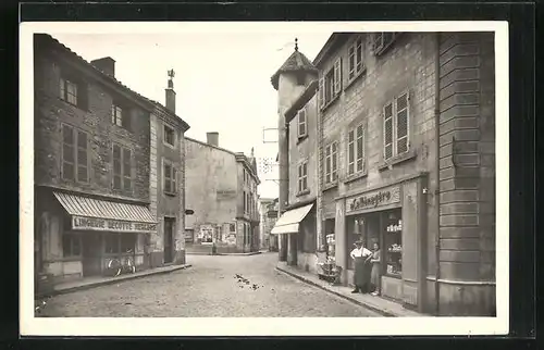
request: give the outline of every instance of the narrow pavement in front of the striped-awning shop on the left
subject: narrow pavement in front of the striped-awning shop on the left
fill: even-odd
[[[115,284],[115,283],[120,283],[120,282],[124,282],[124,280],[128,280],[128,279],[145,277],[145,276],[166,274],[166,273],[174,272],[177,270],[184,270],[184,268],[187,268],[190,266],[191,266],[190,264],[170,265],[170,266],[162,266],[162,267],[157,267],[157,268],[144,270],[144,271],[136,272],[134,274],[126,274],[126,275],[121,275],[118,277],[97,276],[97,277],[87,277],[87,278],[72,280],[72,282],[65,282],[65,283],[54,285],[52,291],[49,291],[47,293],[40,293],[37,296],[37,298],[42,298],[46,296],[63,295],[66,292],[95,288],[95,287],[99,287],[99,286]]]

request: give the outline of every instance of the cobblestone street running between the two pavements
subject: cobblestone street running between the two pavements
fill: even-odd
[[[188,255],[193,267],[55,296],[40,316],[379,316],[274,270],[277,253]]]

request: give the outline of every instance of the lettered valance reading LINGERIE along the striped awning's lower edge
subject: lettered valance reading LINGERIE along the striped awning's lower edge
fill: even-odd
[[[72,216],[72,229],[110,230],[119,233],[152,233],[157,230],[157,224]]]

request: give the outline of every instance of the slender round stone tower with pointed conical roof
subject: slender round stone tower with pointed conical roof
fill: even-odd
[[[285,123],[285,111],[293,104],[306,87],[316,79],[318,70],[313,64],[298,51],[298,40],[295,39],[295,51],[283,63],[283,65],[272,75],[271,83],[277,90],[277,134],[279,134],[279,163],[280,163],[280,196],[279,211],[281,216],[285,212],[289,188],[289,145],[288,125]],[[279,250],[280,261],[287,260],[287,235],[280,235]]]

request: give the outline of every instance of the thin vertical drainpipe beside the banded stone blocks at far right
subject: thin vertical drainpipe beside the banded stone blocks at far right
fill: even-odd
[[[438,279],[441,278],[441,262],[440,262],[440,252],[441,252],[441,198],[440,198],[440,150],[441,150],[441,145],[440,145],[440,117],[441,117],[441,108],[440,108],[440,102],[441,102],[441,97],[440,97],[440,58],[441,58],[441,34],[436,33],[435,34],[435,41],[436,41],[436,52],[435,52],[435,60],[434,60],[434,135],[435,135],[435,143],[436,143],[436,190],[435,190],[435,203],[436,203],[436,210],[437,210],[437,220],[436,220],[436,235],[435,235],[435,251],[436,251],[436,280],[434,283],[434,297],[435,297],[435,313],[437,316],[440,316],[440,297],[441,297],[441,290],[440,290],[440,283]]]

